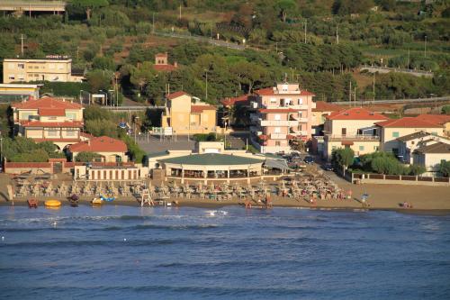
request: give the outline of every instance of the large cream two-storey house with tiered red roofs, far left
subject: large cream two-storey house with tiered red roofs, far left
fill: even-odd
[[[52,141],[63,150],[67,145],[85,141],[83,106],[69,101],[45,97],[11,105],[14,132],[34,141]]]

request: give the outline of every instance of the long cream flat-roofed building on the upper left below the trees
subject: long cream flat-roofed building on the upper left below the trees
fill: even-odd
[[[82,75],[72,74],[72,59],[4,59],[3,80],[12,82],[81,82]]]

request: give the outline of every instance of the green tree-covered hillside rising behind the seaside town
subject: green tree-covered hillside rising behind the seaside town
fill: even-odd
[[[121,94],[156,105],[168,86],[217,104],[284,79],[325,101],[347,100],[350,82],[357,99],[448,95],[449,7],[445,0],[71,0],[63,15],[0,17],[0,59],[69,55],[87,82],[46,83],[44,91],[77,96],[80,89],[107,90],[117,75]],[[180,68],[154,70],[157,52],[167,52]],[[378,74],[374,95],[367,84],[373,76],[356,76],[363,64],[431,70],[435,77]]]

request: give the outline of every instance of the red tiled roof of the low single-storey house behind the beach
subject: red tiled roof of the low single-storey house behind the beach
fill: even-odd
[[[101,136],[69,146],[71,152],[126,152],[127,145],[121,140]]]

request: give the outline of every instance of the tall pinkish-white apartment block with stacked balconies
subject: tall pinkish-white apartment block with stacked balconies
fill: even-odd
[[[290,152],[289,141],[311,138],[314,94],[298,84],[277,84],[250,96],[252,142],[262,153]]]

